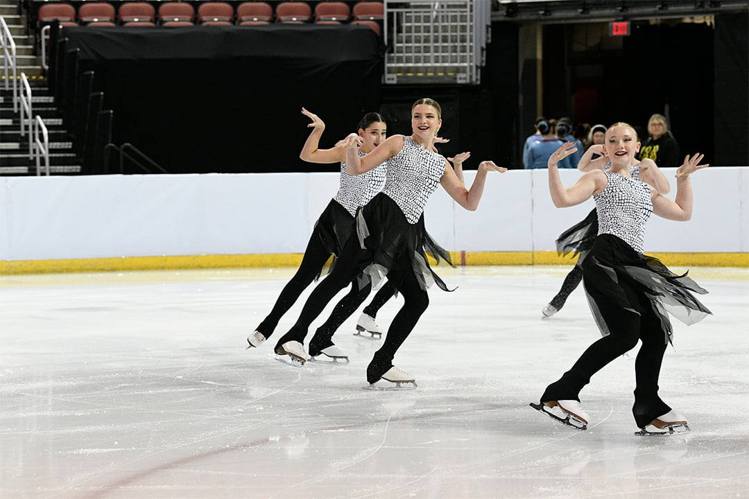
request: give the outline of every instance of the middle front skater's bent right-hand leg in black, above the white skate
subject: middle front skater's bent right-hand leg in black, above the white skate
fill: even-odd
[[[413,331],[416,322],[419,321],[419,317],[429,304],[429,296],[425,290],[421,289],[413,272],[404,272],[402,280],[395,279],[391,282],[398,281],[400,281],[398,291],[403,296],[404,304],[392,319],[383,346],[375,352],[372,362],[367,367],[369,383],[377,382],[392,367],[395,352]]]

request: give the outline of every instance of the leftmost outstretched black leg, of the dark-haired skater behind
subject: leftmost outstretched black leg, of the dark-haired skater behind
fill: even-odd
[[[302,292],[315,280],[329,257],[330,253],[323,245],[317,230],[315,230],[312,237],[309,238],[299,269],[283,288],[278,299],[276,299],[276,304],[273,305],[273,309],[255,328],[255,331],[261,333],[266,339],[270,337],[281,317],[288,312]]]

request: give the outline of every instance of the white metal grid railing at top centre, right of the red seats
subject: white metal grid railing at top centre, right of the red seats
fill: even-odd
[[[386,84],[480,83],[490,0],[385,0],[384,14]]]

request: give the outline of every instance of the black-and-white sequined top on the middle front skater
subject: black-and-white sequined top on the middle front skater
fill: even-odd
[[[395,201],[410,224],[416,224],[445,173],[445,156],[404,137],[403,148],[384,164],[383,194]]]

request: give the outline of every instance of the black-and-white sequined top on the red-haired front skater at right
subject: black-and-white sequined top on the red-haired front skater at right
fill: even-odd
[[[637,168],[639,177],[640,168]],[[593,195],[598,213],[598,235],[613,234],[643,253],[645,224],[653,212],[650,186],[640,180],[604,171],[608,182],[603,191]],[[634,175],[633,175],[634,177]]]

